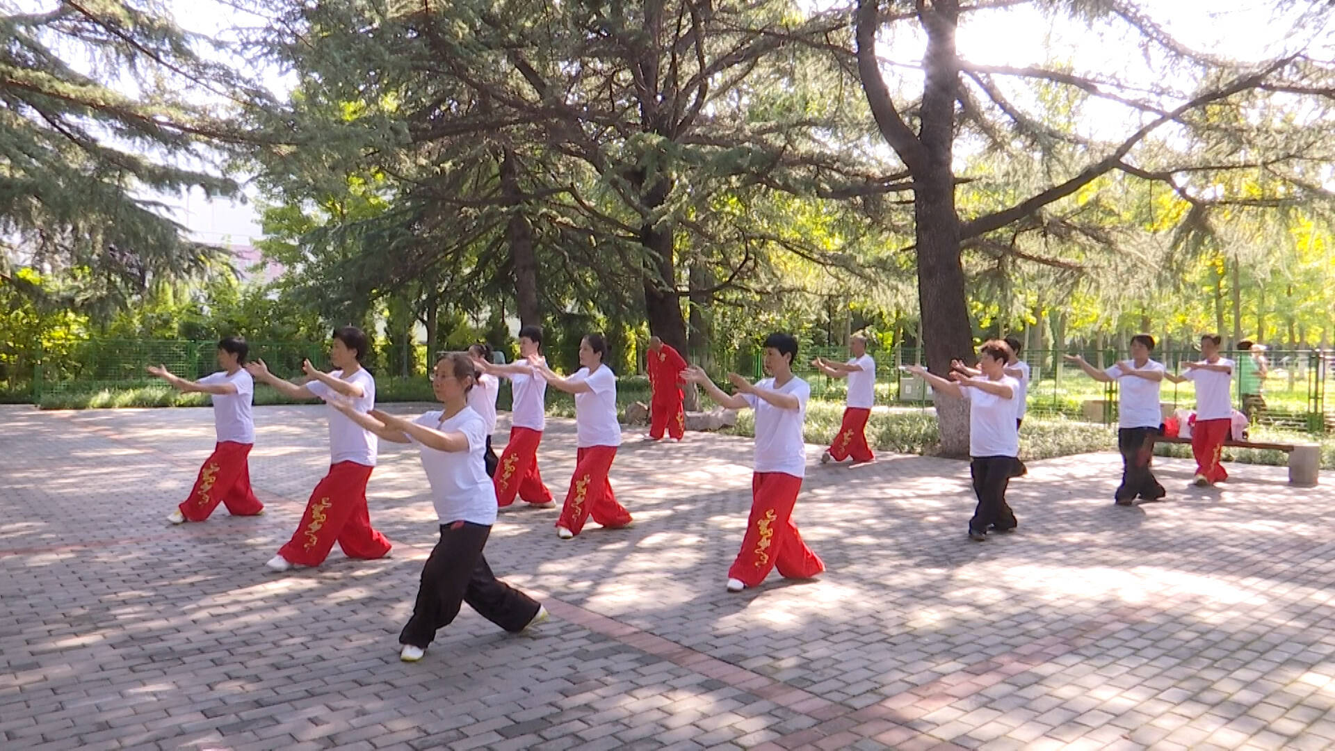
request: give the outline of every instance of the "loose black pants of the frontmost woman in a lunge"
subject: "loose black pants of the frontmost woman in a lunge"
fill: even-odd
[[[422,567],[417,604],[399,633],[399,644],[425,649],[438,629],[454,621],[463,603],[510,632],[523,631],[538,615],[537,600],[491,573],[482,557],[490,533],[490,527],[467,521],[441,525],[441,541]]]

